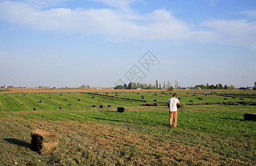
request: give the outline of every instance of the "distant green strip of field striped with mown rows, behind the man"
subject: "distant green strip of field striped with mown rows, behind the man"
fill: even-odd
[[[0,94],[0,111],[40,110],[93,110],[93,105],[111,107],[135,107],[144,103],[163,103],[169,100],[172,92],[97,92],[97,93],[31,93]],[[240,94],[223,96],[221,94],[197,94],[196,92],[177,92],[181,103],[206,102],[255,102],[255,98]]]

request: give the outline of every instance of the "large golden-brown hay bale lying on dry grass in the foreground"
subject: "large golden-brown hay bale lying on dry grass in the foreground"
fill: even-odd
[[[31,133],[32,151],[37,153],[52,153],[57,149],[58,138],[55,134],[37,129]]]

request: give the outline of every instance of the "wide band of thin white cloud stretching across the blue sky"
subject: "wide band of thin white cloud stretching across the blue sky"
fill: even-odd
[[[174,17],[166,9],[156,9],[144,15],[134,13],[129,6],[136,0],[91,0],[106,3],[114,9],[38,8],[64,1],[2,1],[0,19],[35,30],[106,35],[112,41],[157,40],[157,43],[171,44],[218,42],[252,48],[256,45],[255,22],[210,19],[200,25],[205,30],[199,30],[196,25]]]

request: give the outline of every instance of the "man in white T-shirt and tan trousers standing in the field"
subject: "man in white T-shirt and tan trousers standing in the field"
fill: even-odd
[[[168,100],[168,107],[169,107],[169,128],[171,128],[171,124],[173,123],[173,118],[174,118],[174,123],[173,126],[177,126],[177,117],[178,117],[178,110],[177,110],[177,103],[180,105],[180,102],[177,98],[177,94],[173,94],[173,98],[170,98]]]

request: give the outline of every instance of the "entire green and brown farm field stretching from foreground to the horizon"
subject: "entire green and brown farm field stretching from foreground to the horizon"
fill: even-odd
[[[243,117],[244,113],[256,113],[255,92],[175,92],[186,106],[178,110],[177,128],[170,129],[166,102],[173,91],[3,91],[0,162],[4,165],[256,164],[256,125]],[[125,112],[117,112],[117,107],[125,107]],[[57,135],[56,152],[38,154],[29,149],[30,133],[35,129]]]

